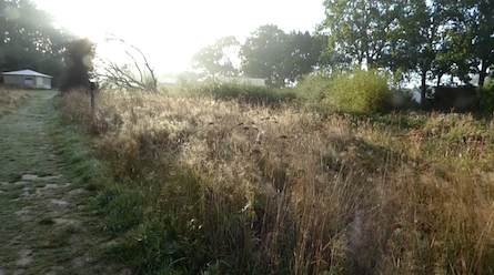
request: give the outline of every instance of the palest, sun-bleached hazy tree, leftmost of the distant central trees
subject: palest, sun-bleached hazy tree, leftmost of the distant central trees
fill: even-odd
[[[212,45],[202,48],[192,57],[192,68],[201,70],[204,77],[216,75],[234,77],[239,69],[234,65],[234,59],[239,58],[240,43],[235,37],[225,37],[216,40]]]

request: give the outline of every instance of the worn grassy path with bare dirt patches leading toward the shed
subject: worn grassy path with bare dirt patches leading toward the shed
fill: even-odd
[[[0,275],[129,274],[101,259],[90,192],[64,175],[48,123],[56,92],[0,120]]]

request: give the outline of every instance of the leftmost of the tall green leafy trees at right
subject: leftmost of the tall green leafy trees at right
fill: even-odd
[[[323,55],[329,65],[352,68],[377,63],[387,47],[387,33],[396,26],[393,0],[325,0],[326,18],[319,32],[329,38]]]

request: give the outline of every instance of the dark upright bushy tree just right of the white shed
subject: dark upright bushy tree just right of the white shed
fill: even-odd
[[[89,89],[92,78],[92,60],[95,44],[89,39],[80,39],[71,42],[67,48],[67,71],[63,78],[61,91],[71,89]]]

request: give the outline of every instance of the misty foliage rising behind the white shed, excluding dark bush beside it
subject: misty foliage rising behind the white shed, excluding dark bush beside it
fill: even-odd
[[[52,75],[58,86],[68,32],[29,0],[0,0],[0,72],[31,69]]]

